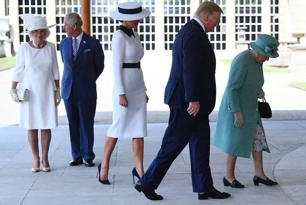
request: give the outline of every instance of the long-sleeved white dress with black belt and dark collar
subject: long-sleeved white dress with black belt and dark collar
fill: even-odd
[[[122,68],[122,63],[138,63],[144,51],[138,33],[127,35],[117,30],[112,38],[114,87],[113,124],[107,136],[114,138],[146,137],[147,98],[141,68]],[[119,105],[119,95],[125,94],[128,108]]]

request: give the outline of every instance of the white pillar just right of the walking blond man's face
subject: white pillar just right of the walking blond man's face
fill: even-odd
[[[226,1],[226,51],[236,54],[235,1]]]

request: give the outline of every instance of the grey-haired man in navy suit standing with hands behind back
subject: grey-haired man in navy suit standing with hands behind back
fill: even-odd
[[[82,25],[78,13],[66,14],[63,30],[68,37],[60,44],[64,63],[62,98],[69,121],[73,157],[69,165],[80,165],[84,159],[86,167],[94,167],[96,80],[104,69],[104,53],[99,40],[84,33]]]

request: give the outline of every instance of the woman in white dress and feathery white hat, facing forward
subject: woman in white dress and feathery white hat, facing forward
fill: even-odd
[[[50,172],[48,151],[51,129],[58,126],[57,106],[60,104],[60,75],[55,45],[47,42],[50,35],[43,15],[21,15],[31,40],[19,46],[10,93],[13,101],[21,103],[20,128],[28,130],[28,140],[33,153],[32,172],[40,171],[38,129],[41,130],[43,171]],[[19,100],[19,88],[29,90],[27,101]]]

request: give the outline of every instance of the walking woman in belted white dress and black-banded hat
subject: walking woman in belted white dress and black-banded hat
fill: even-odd
[[[133,138],[132,146],[135,167],[134,176],[140,178],[143,172],[143,137],[147,134],[147,103],[145,81],[140,67],[143,47],[137,28],[140,20],[151,14],[141,4],[127,2],[118,5],[111,17],[122,25],[112,38],[114,88],[113,124],[110,126],[104,143],[104,158],[98,166],[99,181],[110,185],[108,173],[110,158],[118,138]]]

